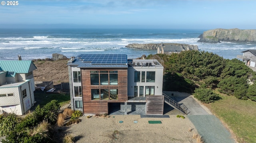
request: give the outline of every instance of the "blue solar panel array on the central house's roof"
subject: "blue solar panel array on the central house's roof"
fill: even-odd
[[[91,62],[91,64],[126,64],[127,55],[125,54],[81,54],[78,55],[83,62]]]

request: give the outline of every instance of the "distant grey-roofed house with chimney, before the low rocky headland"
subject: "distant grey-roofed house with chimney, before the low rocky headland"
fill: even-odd
[[[179,45],[170,45],[163,43],[161,44],[161,48],[158,47],[157,53],[158,54],[166,54],[171,55],[172,53],[180,53],[182,51],[182,48]]]

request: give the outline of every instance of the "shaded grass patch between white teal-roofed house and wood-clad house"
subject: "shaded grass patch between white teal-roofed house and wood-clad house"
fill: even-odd
[[[34,92],[36,104],[39,104],[40,107],[43,107],[45,104],[51,100],[57,100],[60,106],[68,104],[70,102],[70,95],[66,93],[46,93],[44,91],[35,91]]]

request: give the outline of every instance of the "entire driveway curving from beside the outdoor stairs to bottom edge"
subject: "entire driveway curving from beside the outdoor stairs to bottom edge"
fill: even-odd
[[[164,92],[178,103],[183,103],[190,113],[188,118],[203,137],[205,143],[236,143],[231,133],[224,127],[220,119],[210,115],[190,94],[181,92]],[[173,95],[173,96],[172,96]],[[175,113],[177,110],[169,112]]]

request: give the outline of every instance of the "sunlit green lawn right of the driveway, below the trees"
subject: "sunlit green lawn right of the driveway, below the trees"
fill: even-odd
[[[220,96],[221,100],[206,106],[232,129],[239,143],[256,143],[256,102]]]

